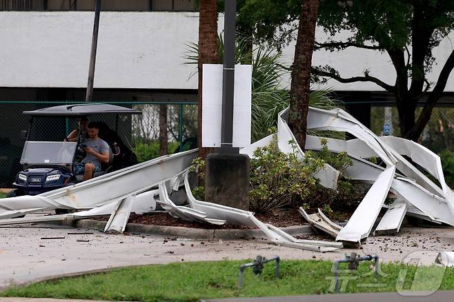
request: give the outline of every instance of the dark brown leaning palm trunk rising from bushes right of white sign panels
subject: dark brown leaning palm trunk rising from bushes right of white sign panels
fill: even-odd
[[[306,144],[310,68],[312,66],[318,6],[318,0],[302,1],[295,58],[293,59],[292,82],[290,84],[288,125],[303,150]]]

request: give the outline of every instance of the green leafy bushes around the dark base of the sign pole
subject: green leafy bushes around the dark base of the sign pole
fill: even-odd
[[[296,143],[293,144],[295,152],[285,154],[271,143],[263,148],[257,148],[254,158],[250,160],[250,210],[257,213],[268,212],[275,208],[305,209],[322,207],[329,214],[333,210],[351,209],[351,205],[361,200],[364,190],[355,185],[342,173],[352,165],[346,152],[335,154],[322,140],[322,150],[319,152],[306,152],[304,162],[297,158]],[[319,185],[318,180],[312,175],[324,168],[329,163],[341,172],[337,183],[337,192]],[[198,167],[199,177],[204,179],[205,162],[196,159],[194,165]],[[195,168],[193,167],[194,171]],[[203,198],[204,188],[199,186],[193,190],[199,199]]]

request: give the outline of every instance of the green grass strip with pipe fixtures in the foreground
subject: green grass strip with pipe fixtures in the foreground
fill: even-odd
[[[111,301],[199,301],[199,299],[328,294],[333,292],[330,261],[281,262],[281,278],[275,279],[274,263],[255,276],[246,270],[244,285],[237,286],[239,265],[246,261],[216,261],[147,265],[112,270],[57,281],[10,288],[0,296]],[[404,290],[454,289],[454,268],[435,265],[388,263],[381,266],[378,281],[372,263],[362,263],[356,272],[341,272],[342,292],[395,292]],[[346,270],[345,265],[339,267]],[[398,276],[400,281],[398,281]],[[403,279],[402,279],[403,276]],[[348,277],[348,283],[345,282]],[[438,286],[441,281],[440,287]],[[343,288],[345,286],[345,288]]]

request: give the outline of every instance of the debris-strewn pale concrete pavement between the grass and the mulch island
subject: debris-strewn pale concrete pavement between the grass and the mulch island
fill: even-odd
[[[92,234],[68,234],[76,232]],[[59,225],[12,225],[0,228],[0,288],[50,276],[127,265],[252,259],[257,254],[278,254],[285,261],[340,259],[355,251],[378,254],[382,261],[402,261],[408,254],[418,252],[422,261],[430,264],[437,252],[452,251],[453,246],[454,228],[402,228],[396,236],[371,236],[359,248],[322,254],[284,248],[267,241],[208,242],[146,234],[103,234]]]

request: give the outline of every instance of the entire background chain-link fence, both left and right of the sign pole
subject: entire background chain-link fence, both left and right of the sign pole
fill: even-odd
[[[30,140],[63,141],[77,128],[76,119],[34,119],[29,129],[28,117],[23,111],[37,110],[54,105],[84,103],[83,101],[0,101],[0,188],[10,188],[21,170],[23,148],[21,130],[30,130]],[[197,103],[190,102],[98,102],[121,105],[140,110],[141,115],[91,116],[90,121],[103,121],[134,150],[137,160],[147,161],[160,154],[197,148]],[[400,136],[397,108],[371,102],[371,130],[377,135]],[[348,103],[350,107],[355,103]],[[417,109],[417,114],[419,114]],[[454,106],[434,108],[420,143],[435,153],[454,150]]]

